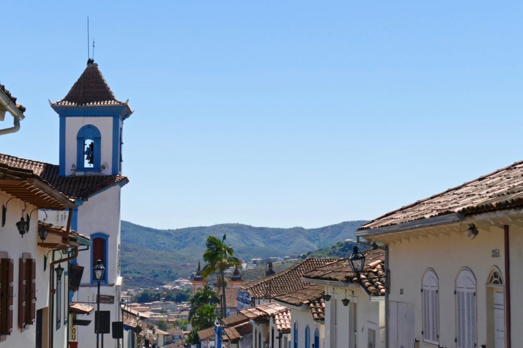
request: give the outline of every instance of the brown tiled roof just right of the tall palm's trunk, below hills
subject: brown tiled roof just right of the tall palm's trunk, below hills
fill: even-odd
[[[240,291],[247,292],[251,298],[269,298],[297,291],[308,285],[301,280],[304,273],[336,260],[338,259],[305,259],[279,273],[242,284]]]

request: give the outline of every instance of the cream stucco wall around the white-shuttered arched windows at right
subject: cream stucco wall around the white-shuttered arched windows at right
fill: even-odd
[[[521,218],[521,216],[519,217]],[[510,218],[515,222],[515,216]],[[523,325],[523,304],[515,300],[520,294],[519,287],[523,282],[522,272],[518,272],[523,262],[523,229],[508,219],[492,217],[474,221],[479,228],[475,239],[467,236],[467,224],[453,224],[433,229],[417,229],[410,232],[410,238],[389,240],[389,266],[391,269],[390,300],[414,305],[414,333],[420,347],[435,347],[423,341],[423,306],[422,280],[428,269],[434,270],[438,277],[439,296],[439,345],[455,346],[456,329],[456,279],[460,271],[469,269],[476,281],[476,342],[477,346],[485,344],[488,326],[487,316],[490,308],[487,305],[488,276],[494,267],[503,274],[504,266],[504,230],[503,224],[510,229],[510,263],[512,298],[512,344],[523,346],[523,338],[516,328]],[[464,232],[460,232],[460,229]],[[405,235],[406,236],[406,235]],[[423,237],[422,237],[423,236]],[[493,257],[493,250],[499,250],[499,257]]]

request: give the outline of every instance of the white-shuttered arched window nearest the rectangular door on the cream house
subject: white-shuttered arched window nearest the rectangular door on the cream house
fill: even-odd
[[[423,341],[439,343],[438,277],[433,270],[423,276]]]

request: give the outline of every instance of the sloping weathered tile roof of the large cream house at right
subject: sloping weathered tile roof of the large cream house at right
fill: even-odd
[[[523,161],[386,213],[359,229],[417,221],[451,213],[474,214],[523,206]]]

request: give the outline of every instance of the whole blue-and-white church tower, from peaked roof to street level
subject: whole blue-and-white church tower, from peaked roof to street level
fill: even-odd
[[[94,60],[67,95],[54,103],[60,117],[59,184],[66,184],[75,200],[71,227],[89,236],[89,252],[79,253],[76,260],[84,272],[78,291],[70,301],[96,302],[97,282],[93,266],[100,260],[105,267],[100,282],[104,295],[100,310],[110,311],[110,321],[120,320],[120,190],[129,182],[122,173],[122,127],[132,111],[126,102],[115,98]],[[62,183],[60,183],[62,182]],[[60,222],[58,222],[60,223]],[[79,348],[96,345],[94,314],[77,315],[90,320],[77,327]],[[113,341],[110,343],[113,346]]]

